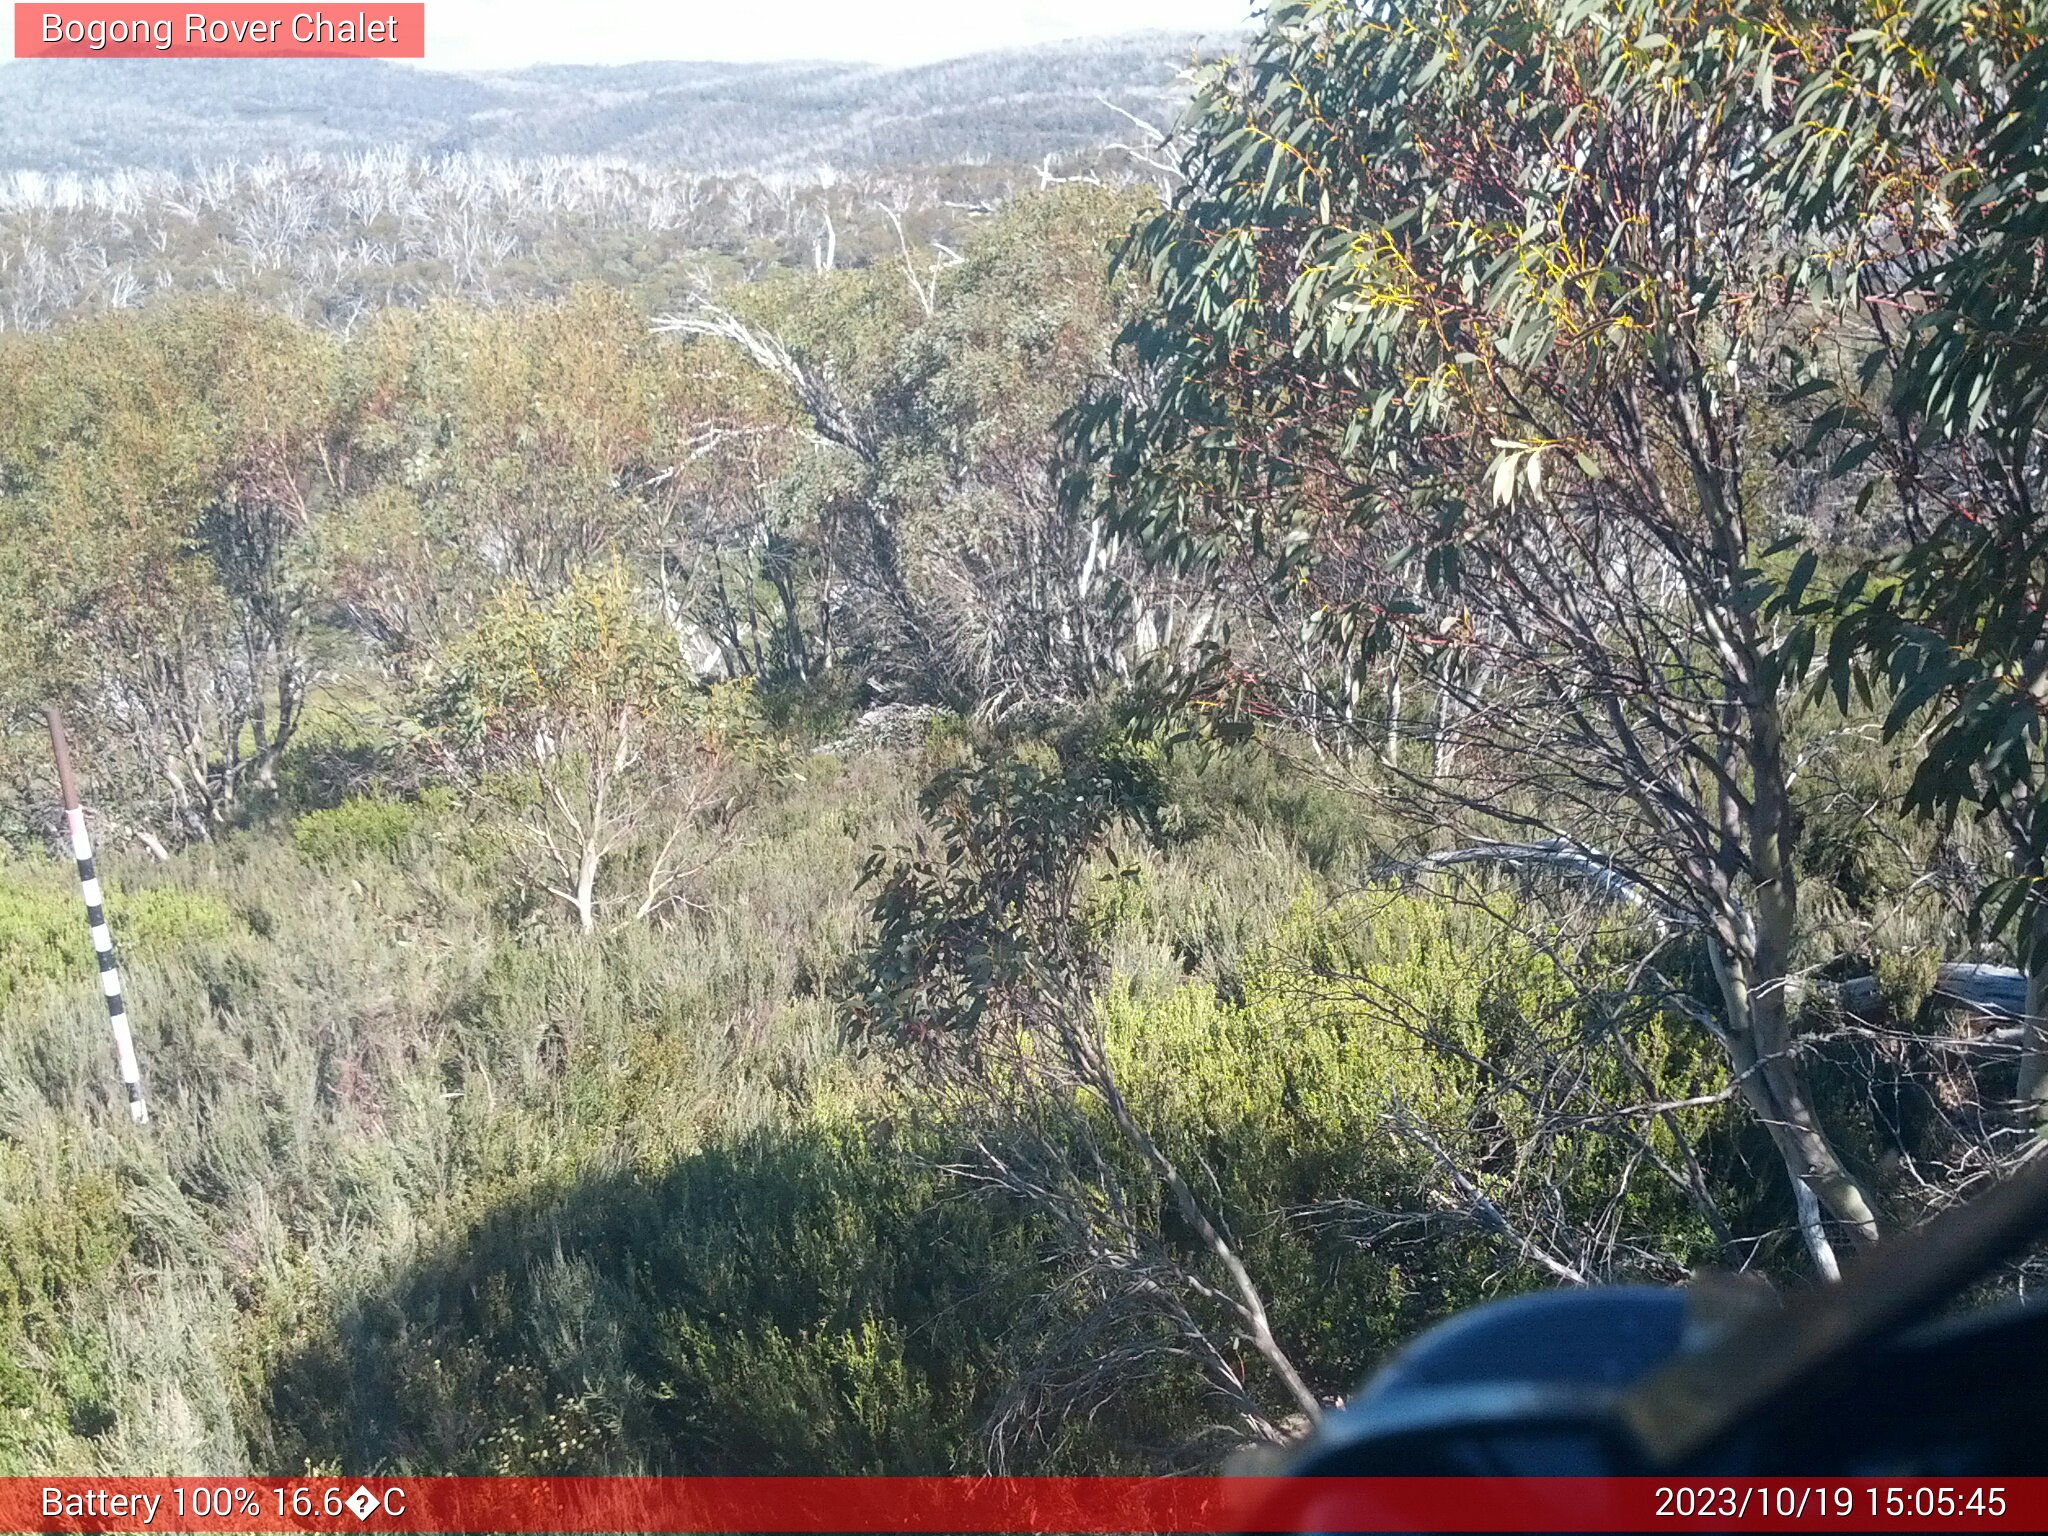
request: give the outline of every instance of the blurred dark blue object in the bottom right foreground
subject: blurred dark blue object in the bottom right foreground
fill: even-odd
[[[1556,1290],[1425,1333],[1303,1477],[2048,1473],[2048,1305],[1937,1319],[2048,1227],[2048,1157],[1837,1286],[1714,1329],[1683,1290]]]

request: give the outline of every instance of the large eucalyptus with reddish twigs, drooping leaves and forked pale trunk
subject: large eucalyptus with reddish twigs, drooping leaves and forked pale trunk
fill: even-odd
[[[1823,1272],[1878,1212],[1792,1008],[1786,739],[1817,641],[1767,606],[1812,575],[1780,553],[1782,401],[1847,279],[1774,172],[1825,127],[1794,82],[1851,27],[1276,4],[1124,252],[1157,295],[1126,334],[1143,387],[1075,416],[1118,535],[1266,614],[1227,643],[1257,709],[1343,717],[1399,651],[1442,690],[1440,750],[1389,758],[1442,819],[1556,840],[1704,936],[1700,1024]]]

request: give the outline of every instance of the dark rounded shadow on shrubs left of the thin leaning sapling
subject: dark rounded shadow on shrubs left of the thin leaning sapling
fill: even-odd
[[[270,1364],[272,1466],[944,1473],[1030,1233],[885,1128],[762,1130],[492,1210]]]

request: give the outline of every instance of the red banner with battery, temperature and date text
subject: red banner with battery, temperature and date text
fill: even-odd
[[[6,1532],[2048,1530],[2048,1479],[0,1479]]]

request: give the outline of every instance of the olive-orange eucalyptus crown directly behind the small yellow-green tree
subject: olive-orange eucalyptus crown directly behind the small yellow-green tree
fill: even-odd
[[[326,530],[334,596],[399,672],[504,586],[535,598],[659,543],[702,393],[616,293],[389,311],[346,350],[373,481]]]

